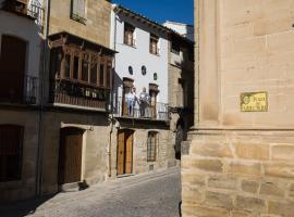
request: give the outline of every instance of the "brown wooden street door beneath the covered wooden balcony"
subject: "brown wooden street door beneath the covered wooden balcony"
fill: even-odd
[[[59,184],[81,181],[84,130],[63,128],[60,132]]]

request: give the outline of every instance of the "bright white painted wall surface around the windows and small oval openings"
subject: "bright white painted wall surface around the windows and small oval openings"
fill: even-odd
[[[135,40],[136,48],[132,48],[123,43],[124,22],[127,22],[136,27]],[[150,33],[160,37],[159,48],[160,54],[154,55],[149,53],[149,37]],[[119,97],[122,97],[122,79],[128,77],[134,79],[134,85],[137,89],[137,94],[142,92],[143,87],[149,88],[149,84],[159,86],[158,102],[168,103],[168,52],[169,42],[167,34],[158,33],[157,30],[144,25],[135,20],[123,15],[111,14],[111,48],[119,53],[115,54],[114,69],[118,77],[114,77],[114,89],[118,89]],[[147,74],[142,75],[142,66],[145,65]],[[128,73],[128,66],[133,67],[133,75]],[[154,73],[157,73],[158,79],[154,80]]]

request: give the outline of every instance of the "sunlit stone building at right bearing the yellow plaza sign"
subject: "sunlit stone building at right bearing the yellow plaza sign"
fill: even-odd
[[[183,216],[294,215],[293,10],[292,0],[195,0]]]

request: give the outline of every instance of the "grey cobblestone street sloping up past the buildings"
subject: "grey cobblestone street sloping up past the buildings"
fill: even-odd
[[[84,191],[0,206],[2,217],[179,217],[180,168],[120,178]]]

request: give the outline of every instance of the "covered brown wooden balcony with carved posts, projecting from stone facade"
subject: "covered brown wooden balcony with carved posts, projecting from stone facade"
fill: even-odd
[[[49,39],[50,103],[108,111],[114,51],[65,31]]]

